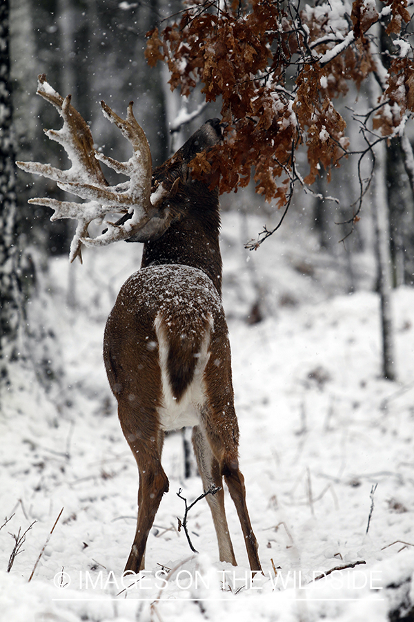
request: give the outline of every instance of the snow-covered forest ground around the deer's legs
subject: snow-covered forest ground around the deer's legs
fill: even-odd
[[[10,519],[0,529],[1,622],[385,622],[404,614],[402,603],[413,607],[414,290],[393,296],[398,381],[384,381],[369,258],[333,261],[284,234],[248,254],[241,232],[253,237],[261,225],[224,214],[222,252],[241,466],[264,576],[251,581],[228,496],[239,566],[219,563],[205,500],[189,514],[200,552],[191,554],[176,493],[194,500],[201,480],[184,480],[177,433],[166,438],[170,491],[148,540],[149,572],[141,583],[121,578],[137,469],[101,359],[108,312],[139,265],[139,245],[120,243],[87,251],[83,266],[51,261],[50,295],[32,303],[55,380],[42,386],[18,366],[0,415],[0,527]],[[265,319],[249,325],[257,292]],[[39,361],[39,377],[47,365]],[[28,527],[7,573],[14,536]]]

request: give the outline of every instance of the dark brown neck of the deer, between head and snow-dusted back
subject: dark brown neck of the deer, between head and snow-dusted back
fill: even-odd
[[[160,264],[188,265],[202,270],[221,296],[219,214],[195,214],[173,223],[158,240],[146,242],[141,267]]]

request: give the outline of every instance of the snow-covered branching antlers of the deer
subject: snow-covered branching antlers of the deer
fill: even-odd
[[[82,243],[99,246],[125,240],[142,229],[150,220],[153,212],[150,200],[152,176],[150,147],[144,131],[132,113],[132,102],[128,106],[126,120],[115,114],[105,102],[101,102],[103,114],[119,127],[132,145],[133,153],[128,162],[117,162],[95,151],[88,124],[70,103],[71,96],[61,97],[46,82],[44,74],[39,75],[37,95],[53,104],[63,118],[63,127],[58,131],[48,130],[46,135],[64,147],[72,166],[61,171],[50,164],[40,162],[17,162],[17,165],[28,173],[55,180],[59,188],[86,199],[87,202],[83,203],[58,201],[47,197],[29,200],[34,205],[52,207],[55,212],[50,220],[73,218],[79,221],[70,245],[70,261],[74,261],[77,256],[82,261]],[[130,180],[116,186],[108,185],[98,160],[118,173],[124,173]],[[157,204],[166,194],[167,191],[163,188],[158,191]],[[103,218],[111,212],[129,213],[132,216],[122,224],[106,222],[106,232],[96,238],[90,238],[88,225],[91,221]]]

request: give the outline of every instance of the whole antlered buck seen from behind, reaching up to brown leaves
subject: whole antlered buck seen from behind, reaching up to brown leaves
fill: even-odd
[[[144,569],[148,534],[168,477],[161,465],[164,435],[193,426],[193,448],[213,516],[219,559],[237,565],[224,509],[223,479],[235,503],[250,569],[261,572],[258,546],[239,469],[239,426],[234,405],[228,327],[221,303],[219,191],[208,175],[192,175],[191,162],[224,138],[224,124],[208,120],[174,156],[152,171],[150,147],[135,120],[132,102],[126,119],[105,102],[103,114],[132,146],[128,162],[94,147],[89,126],[71,104],[38,79],[37,94],[55,106],[63,127],[48,130],[68,153],[70,169],[17,162],[28,173],[57,182],[84,202],[32,198],[54,209],[51,220],[73,218],[77,230],[70,261],[81,248],[115,241],[144,244],[141,267],[119,291],[108,317],[103,361],[119,422],[139,472],[137,529],[124,572]],[[110,186],[100,162],[129,180]],[[113,214],[122,214],[114,223]],[[88,226],[100,218],[106,229],[95,238]],[[112,218],[112,220],[110,220]]]

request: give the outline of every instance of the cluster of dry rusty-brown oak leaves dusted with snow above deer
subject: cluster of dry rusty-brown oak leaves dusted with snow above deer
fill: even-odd
[[[372,129],[397,133],[414,111],[411,15],[406,0],[379,4],[355,0],[348,15],[341,2],[196,0],[162,32],[149,32],[148,63],[168,64],[172,89],[189,95],[201,83],[207,102],[221,100],[226,142],[195,158],[195,174],[212,173],[221,192],[246,186],[253,174],[256,190],[279,207],[295,181],[315,181],[321,164],[329,179],[349,147],[338,98],[379,66],[384,92]],[[393,49],[385,66],[380,28]],[[303,179],[295,165],[301,145]]]

